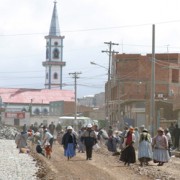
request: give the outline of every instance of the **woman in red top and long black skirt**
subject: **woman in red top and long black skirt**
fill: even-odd
[[[133,143],[135,142],[134,128],[130,127],[127,136],[124,138],[123,147],[121,151],[120,160],[124,162],[124,165],[136,162],[135,149]]]

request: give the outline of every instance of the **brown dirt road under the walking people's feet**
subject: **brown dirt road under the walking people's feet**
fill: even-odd
[[[92,160],[86,160],[85,153],[77,153],[76,157],[68,161],[59,144],[54,145],[50,160],[36,153],[33,156],[41,165],[37,176],[46,180],[180,179],[180,160],[177,158],[163,167],[154,163],[148,167],[139,167],[139,162],[128,167],[118,160],[118,156],[112,156],[105,148],[101,148],[93,153]]]

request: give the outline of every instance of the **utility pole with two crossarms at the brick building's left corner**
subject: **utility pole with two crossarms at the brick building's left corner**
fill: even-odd
[[[112,55],[114,54],[114,53],[118,53],[118,52],[116,52],[116,51],[112,51],[112,46],[113,45],[116,45],[116,46],[118,46],[119,44],[117,44],[117,43],[113,43],[113,42],[104,42],[104,44],[107,44],[108,46],[109,46],[109,50],[105,50],[105,51],[102,51],[102,53],[108,53],[109,54],[109,64],[108,64],[108,83],[107,83],[107,85],[108,85],[108,87],[107,87],[107,89],[108,89],[108,92],[107,92],[107,100],[106,100],[106,104],[107,104],[107,117],[108,117],[108,121],[110,121],[111,122],[111,120],[110,120],[110,113],[109,113],[109,101],[111,100],[111,82],[110,82],[110,80],[111,80],[111,60],[112,60]]]

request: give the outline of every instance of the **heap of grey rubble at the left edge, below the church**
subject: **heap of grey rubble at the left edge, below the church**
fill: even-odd
[[[15,138],[16,133],[19,131],[15,127],[4,126],[0,124],[0,139],[10,139]]]

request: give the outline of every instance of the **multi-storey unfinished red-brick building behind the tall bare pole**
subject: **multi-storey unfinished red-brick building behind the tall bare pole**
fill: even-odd
[[[179,119],[180,54],[155,55],[155,129],[160,119]],[[112,58],[111,80],[106,84],[106,111],[113,125],[127,121],[149,129],[151,54],[117,54]]]

